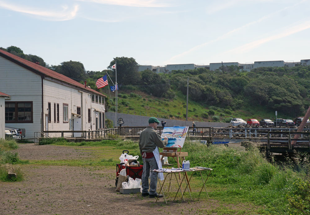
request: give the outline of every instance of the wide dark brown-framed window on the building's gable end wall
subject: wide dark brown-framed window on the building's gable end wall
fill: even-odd
[[[5,102],[6,123],[32,123],[33,122],[32,101]]]

